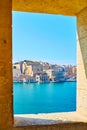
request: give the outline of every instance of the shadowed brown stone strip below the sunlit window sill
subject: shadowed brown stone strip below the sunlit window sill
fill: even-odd
[[[39,126],[27,126],[16,127],[6,130],[87,130],[86,123],[65,123],[54,125],[39,125]]]

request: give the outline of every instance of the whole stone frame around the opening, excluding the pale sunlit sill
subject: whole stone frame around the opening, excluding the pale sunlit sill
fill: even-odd
[[[87,116],[87,0],[13,0],[18,11],[77,15],[77,112]],[[86,130],[84,123],[13,127],[12,0],[0,1],[0,130]]]

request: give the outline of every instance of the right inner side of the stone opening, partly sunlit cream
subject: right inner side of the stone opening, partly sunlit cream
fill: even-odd
[[[87,116],[87,8],[77,15],[77,110]]]

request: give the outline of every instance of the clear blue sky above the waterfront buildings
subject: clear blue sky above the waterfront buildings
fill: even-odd
[[[13,62],[76,65],[76,18],[13,12]]]

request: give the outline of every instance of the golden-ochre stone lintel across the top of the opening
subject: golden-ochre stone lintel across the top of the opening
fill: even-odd
[[[85,7],[87,7],[86,0],[13,0],[12,4],[15,11],[74,16]]]

